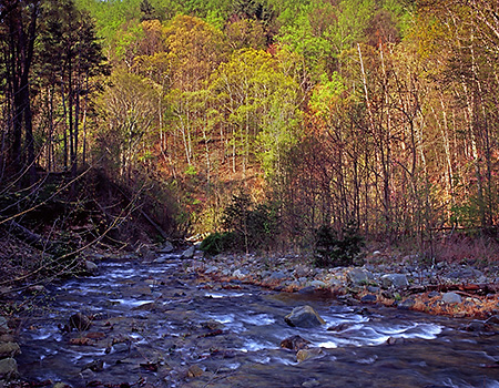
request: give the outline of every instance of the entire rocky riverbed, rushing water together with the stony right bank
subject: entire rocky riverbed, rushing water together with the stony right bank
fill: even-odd
[[[320,269],[291,255],[169,251],[94,256],[91,276],[39,288],[21,327],[0,318],[3,381],[19,372],[11,387],[499,386],[497,268],[386,264],[375,253],[363,267]],[[293,313],[309,308],[318,324],[309,316],[299,327]]]

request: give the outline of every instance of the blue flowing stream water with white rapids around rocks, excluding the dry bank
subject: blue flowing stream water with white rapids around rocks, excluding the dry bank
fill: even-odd
[[[303,305],[326,325],[287,326],[284,317]],[[92,317],[90,329],[61,330],[78,312]],[[31,381],[72,387],[499,387],[499,336],[465,324],[200,284],[174,256],[109,262],[99,276],[50,289],[24,325],[18,364]],[[281,348],[293,335],[310,341],[312,358],[298,363],[296,351]]]

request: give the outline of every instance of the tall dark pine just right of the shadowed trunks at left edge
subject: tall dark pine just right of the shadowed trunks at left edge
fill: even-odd
[[[40,60],[47,64],[40,74],[47,76],[49,99],[60,90],[63,121],[64,167],[77,176],[80,151],[82,98],[90,91],[89,80],[106,72],[101,45],[89,14],[77,10],[72,0],[48,0]],[[50,102],[50,133],[53,132],[53,106]],[[86,108],[86,105],[85,105]],[[83,155],[84,157],[84,155]]]

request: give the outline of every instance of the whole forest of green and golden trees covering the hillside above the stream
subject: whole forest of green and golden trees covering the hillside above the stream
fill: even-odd
[[[0,74],[9,233],[497,238],[495,1],[2,0]]]

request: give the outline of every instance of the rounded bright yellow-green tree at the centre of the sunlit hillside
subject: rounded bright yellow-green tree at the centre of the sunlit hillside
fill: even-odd
[[[211,80],[217,110],[224,118],[232,169],[241,156],[243,176],[258,157],[272,174],[281,152],[296,135],[299,86],[271,54],[254,49],[236,51]]]

